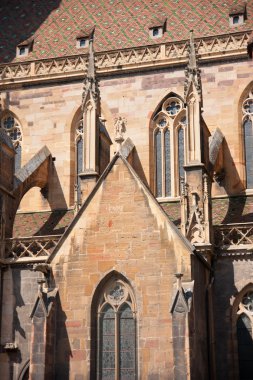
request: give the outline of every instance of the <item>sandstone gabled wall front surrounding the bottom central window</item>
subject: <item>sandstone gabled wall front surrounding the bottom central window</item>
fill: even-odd
[[[123,154],[117,153],[48,260],[63,311],[58,323],[66,326],[68,340],[74,342],[70,367],[84,378],[89,371],[96,378],[99,353],[94,331],[104,309],[102,304],[94,311],[92,304],[98,305],[96,297],[103,297],[101,281],[118,273],[129,283],[136,302],[140,373],[148,378],[152,366],[152,373],[172,378],[174,274],[184,273],[191,280],[192,252]],[[65,343],[64,337],[57,340],[57,371],[66,363]],[[167,368],[160,368],[154,352],[167,358]]]

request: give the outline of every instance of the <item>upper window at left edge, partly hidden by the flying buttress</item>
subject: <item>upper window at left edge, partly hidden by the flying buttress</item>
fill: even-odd
[[[15,172],[21,168],[22,154],[22,132],[19,121],[10,112],[5,113],[1,118],[0,127],[4,129],[11,138],[16,155],[15,155]]]

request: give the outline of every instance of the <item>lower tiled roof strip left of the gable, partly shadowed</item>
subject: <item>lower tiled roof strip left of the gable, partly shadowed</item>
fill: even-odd
[[[17,213],[13,237],[61,235],[74,217],[72,210]]]

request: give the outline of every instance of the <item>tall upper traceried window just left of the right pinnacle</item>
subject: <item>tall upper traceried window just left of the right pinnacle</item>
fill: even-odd
[[[180,194],[180,177],[184,177],[185,127],[183,101],[176,96],[168,97],[153,118],[157,197]]]

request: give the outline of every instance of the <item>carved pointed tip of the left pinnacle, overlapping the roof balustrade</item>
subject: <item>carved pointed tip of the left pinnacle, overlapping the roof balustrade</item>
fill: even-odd
[[[94,29],[89,37],[88,67],[87,67],[87,74],[83,82],[82,111],[84,111],[86,100],[89,93],[90,93],[90,96],[94,99],[95,104],[97,103],[97,100],[98,100],[98,85],[97,85],[96,70],[95,70],[93,38],[94,38]]]

